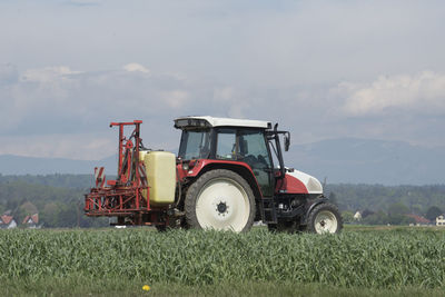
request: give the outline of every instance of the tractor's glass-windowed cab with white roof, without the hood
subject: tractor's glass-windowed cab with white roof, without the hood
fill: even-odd
[[[176,119],[175,127],[182,130],[178,158],[184,164],[205,159],[207,162],[226,164],[225,167],[247,165],[261,196],[274,196],[275,179],[280,175],[277,174],[279,170],[274,170],[270,122],[190,117]]]

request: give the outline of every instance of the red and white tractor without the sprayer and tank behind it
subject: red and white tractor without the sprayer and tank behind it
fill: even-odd
[[[220,209],[231,207],[226,202],[228,199],[219,197],[230,196],[230,190],[228,186],[217,187],[212,178],[219,180],[224,176],[225,182],[231,182],[235,187],[238,187],[237,184],[247,184],[247,187],[238,187],[240,199],[248,197],[250,190],[254,197],[253,201],[244,198],[243,205],[255,205],[255,220],[266,222],[270,229],[314,229],[316,222],[309,215],[314,214],[316,207],[317,212],[327,208],[328,217],[323,220],[323,226],[317,225],[322,226],[322,231],[336,232],[342,228],[338,210],[323,196],[322,184],[315,177],[285,167],[281,139],[284,150],[287,151],[290,133],[278,130],[278,125],[273,127],[269,121],[258,120],[185,117],[176,119],[175,127],[182,130],[178,172],[184,191],[187,192],[185,206],[187,201],[191,205],[190,211],[186,209],[188,225],[219,228],[220,220],[225,219],[222,215],[226,214],[220,212]],[[210,174],[212,171],[218,171],[221,177],[216,172]],[[208,195],[206,184],[211,185]],[[216,217],[200,214],[199,208],[205,207]],[[248,214],[240,216],[249,217]],[[244,224],[238,226],[228,220],[227,226],[221,228],[244,230],[249,225],[248,220]]]

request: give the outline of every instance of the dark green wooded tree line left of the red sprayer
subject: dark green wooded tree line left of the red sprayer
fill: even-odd
[[[13,216],[19,226],[34,214],[43,228],[108,226],[107,218],[83,215],[83,195],[92,179],[88,175],[0,176],[0,215]]]

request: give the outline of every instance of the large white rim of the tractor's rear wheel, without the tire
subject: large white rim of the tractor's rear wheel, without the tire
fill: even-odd
[[[196,201],[196,217],[202,228],[234,230],[246,227],[250,214],[250,202],[241,185],[217,178],[207,182]]]

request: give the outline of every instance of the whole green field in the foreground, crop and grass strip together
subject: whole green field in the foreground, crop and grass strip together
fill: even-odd
[[[445,228],[0,230],[0,267],[1,296],[443,296]]]

